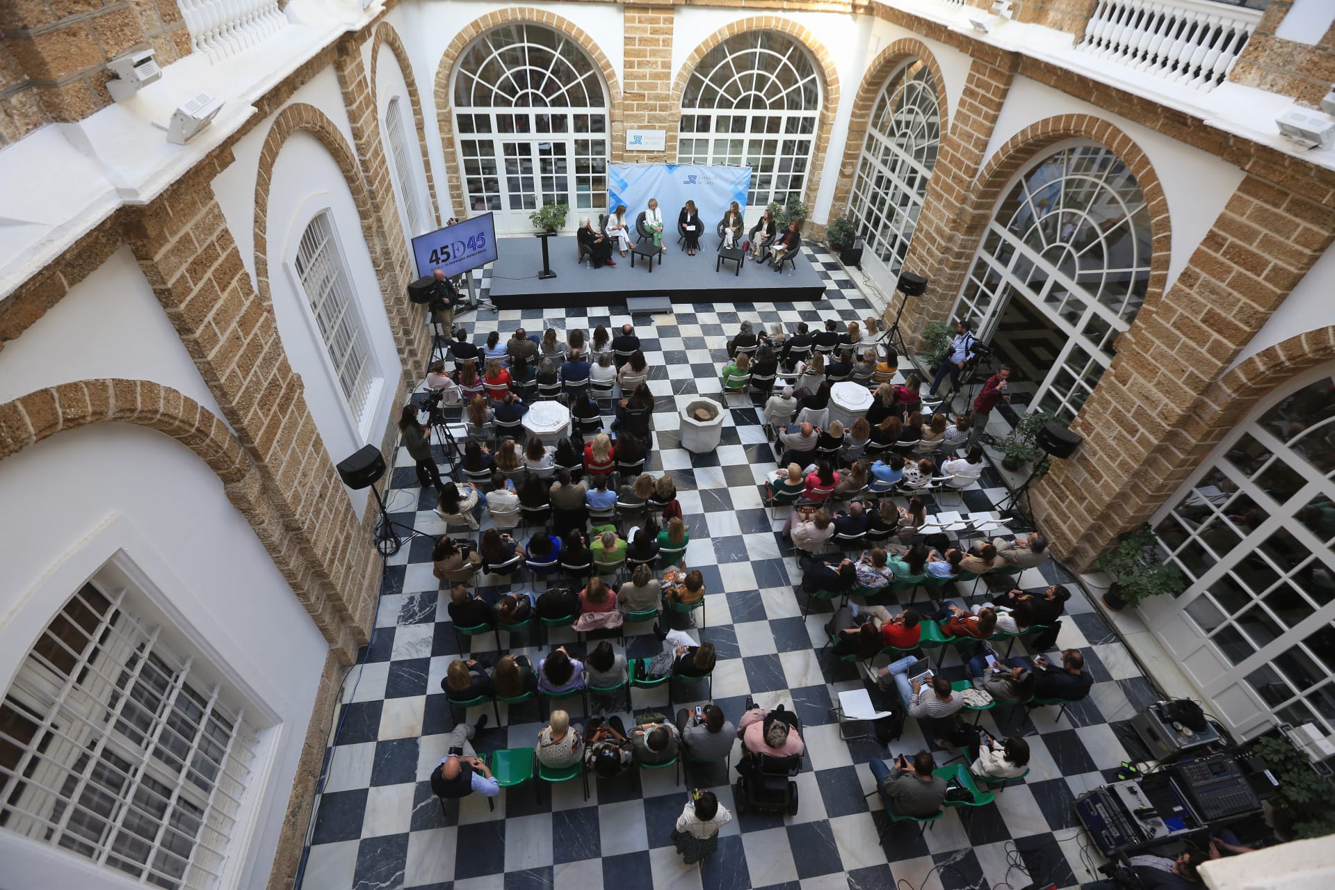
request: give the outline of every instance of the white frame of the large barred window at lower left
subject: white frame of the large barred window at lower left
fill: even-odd
[[[52,866],[59,863],[52,874],[61,874],[68,866],[72,873],[91,875],[95,886],[171,886],[172,881],[176,881],[175,886],[191,889],[235,886],[255,827],[255,798],[272,753],[274,734],[263,734],[270,737],[264,739],[258,727],[272,722],[272,718],[267,709],[250,707],[248,695],[234,687],[224,671],[214,667],[215,652],[207,647],[196,650],[191,646],[198,635],[160,623],[171,616],[172,610],[163,610],[158,602],[160,591],[143,578],[124,551],[117,551],[92,579],[77,586],[76,594],[41,623],[37,639],[64,614],[69,602],[84,595],[88,588],[103,596],[108,608],[99,618],[97,630],[79,652],[60,642],[65,652],[75,656],[73,669],[61,674],[53,664],[44,663],[33,651],[37,642],[33,640],[5,693],[5,705],[25,713],[39,725],[39,730],[27,743],[4,737],[7,743],[24,750],[16,775],[0,774],[0,799],[5,802],[0,809],[9,817],[3,831],[4,843],[36,847],[44,858],[51,858]],[[112,615],[115,627],[111,626]],[[134,658],[136,652],[139,656]],[[129,664],[131,660],[134,664]],[[170,667],[172,675],[167,678],[166,689],[158,690],[162,698],[156,702],[156,714],[144,710],[136,697],[117,691],[117,687],[142,691],[144,687],[138,685],[139,681],[147,678],[147,671],[156,671],[163,664]],[[164,743],[175,743],[178,750],[184,745],[186,762],[192,762],[200,753],[199,735],[187,739],[180,734],[188,729],[178,707],[183,701],[183,689],[191,690],[191,699],[196,703],[200,699],[207,703],[196,729],[206,722],[208,714],[216,713],[236,730],[223,751],[226,766],[218,775],[219,781],[207,793],[184,778],[190,774],[188,770],[174,773],[167,761],[151,753],[155,749],[163,750]],[[174,714],[176,719],[168,719],[168,714]],[[139,734],[143,741],[135,741],[123,729],[129,726],[127,721],[132,717],[147,721],[147,727],[128,730]],[[80,765],[89,751],[96,757]],[[128,774],[108,758],[127,763]],[[116,798],[119,805],[111,806],[104,814],[92,814],[92,822],[103,826],[103,834],[91,841],[88,835],[71,831],[68,823],[76,811],[92,813],[73,806],[72,801],[79,801],[92,787],[103,794],[108,791],[105,785],[89,781],[99,769],[108,771],[123,785]],[[150,783],[166,791],[154,790]],[[136,798],[143,791],[147,791],[147,797]],[[158,818],[144,810],[143,803],[131,802],[135,799],[166,807],[146,854],[148,865],[138,878],[107,862],[117,849],[111,842],[112,837],[136,842],[142,839],[142,835],[128,837],[131,831],[125,826],[127,817],[147,815],[150,822]],[[210,850],[210,845],[196,842],[186,859],[183,877],[178,879],[155,873],[151,865],[163,849],[170,815],[182,801],[204,810],[199,834],[202,838],[211,834],[214,847]],[[219,830],[220,821],[230,823],[226,837]],[[32,833],[37,835],[33,837]],[[92,847],[95,855],[57,843],[63,837]],[[125,851],[124,846],[119,849]],[[16,874],[31,870],[29,863],[20,862],[17,854],[12,865]],[[150,878],[156,881],[150,882]]]

